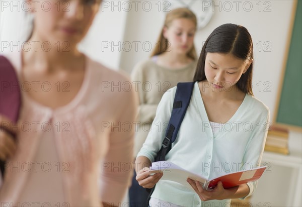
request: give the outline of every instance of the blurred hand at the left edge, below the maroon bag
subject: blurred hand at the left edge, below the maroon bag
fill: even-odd
[[[9,122],[4,116],[0,115],[0,160],[7,160],[16,152],[16,142],[14,138],[5,130],[11,130],[9,126],[7,126]],[[16,132],[15,132],[16,133]]]

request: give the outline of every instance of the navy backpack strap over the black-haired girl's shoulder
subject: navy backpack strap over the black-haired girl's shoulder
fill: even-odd
[[[166,154],[170,151],[172,143],[177,137],[178,130],[190,104],[194,83],[195,82],[184,82],[177,84],[168,130],[162,148],[155,159],[156,161],[165,160]]]

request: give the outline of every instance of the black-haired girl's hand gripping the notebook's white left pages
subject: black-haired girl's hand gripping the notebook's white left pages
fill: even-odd
[[[153,188],[163,175],[163,173],[149,175],[149,168],[145,167],[136,174],[136,180],[138,184],[144,188]]]

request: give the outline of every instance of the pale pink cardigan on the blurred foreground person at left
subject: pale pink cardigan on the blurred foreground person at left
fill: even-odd
[[[21,52],[6,57],[20,77]],[[80,91],[64,107],[52,110],[41,106],[21,89],[19,122],[20,126],[25,122],[47,122],[55,127],[53,139],[59,161],[69,164],[69,172],[61,174],[63,196],[69,206],[99,206],[101,201],[118,205],[130,185],[133,170],[136,95],[125,76],[89,58],[86,64]],[[60,130],[56,123],[60,123]],[[29,131],[19,127],[17,153],[9,163],[32,163],[39,138],[47,133],[39,124],[34,126]],[[64,131],[66,126],[68,130]],[[18,202],[28,175],[22,169],[6,170],[1,203]]]

